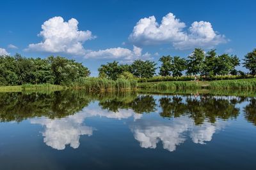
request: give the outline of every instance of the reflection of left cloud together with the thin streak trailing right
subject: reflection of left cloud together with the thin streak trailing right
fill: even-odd
[[[141,114],[136,114],[132,110],[120,110],[112,112],[97,108],[84,108],[83,111],[70,115],[65,118],[35,118],[31,120],[31,124],[40,124],[44,126],[44,143],[57,150],[64,150],[66,145],[72,148],[79,147],[79,138],[81,135],[91,136],[93,127],[83,125],[86,117],[107,117],[107,118],[129,118],[133,117],[134,121],[142,117]]]

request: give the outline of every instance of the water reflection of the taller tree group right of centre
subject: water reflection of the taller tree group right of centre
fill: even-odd
[[[162,97],[159,99],[162,109],[161,117],[180,117],[181,115],[189,115],[193,118],[196,125],[202,124],[205,119],[209,122],[216,122],[216,118],[227,120],[228,118],[236,118],[239,115],[239,108],[236,108],[234,101],[228,99],[218,99],[213,96],[200,96],[200,98],[187,96],[184,103],[182,97],[173,96]]]

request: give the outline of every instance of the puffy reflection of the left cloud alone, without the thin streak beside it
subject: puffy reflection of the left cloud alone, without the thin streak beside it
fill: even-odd
[[[82,125],[85,117],[84,113],[77,113],[76,115],[57,119],[35,118],[31,120],[31,124],[41,124],[45,127],[42,134],[47,146],[63,150],[66,145],[78,148],[81,135],[92,135],[93,128]]]

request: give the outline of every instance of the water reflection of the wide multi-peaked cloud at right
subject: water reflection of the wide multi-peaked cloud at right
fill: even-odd
[[[186,134],[194,143],[205,144],[211,141],[212,135],[225,126],[225,122],[214,124],[204,122],[198,126],[189,117],[173,118],[171,122],[141,119],[131,125],[134,138],[140,142],[142,148],[156,148],[159,141],[163,148],[173,152],[177,145],[186,141]]]

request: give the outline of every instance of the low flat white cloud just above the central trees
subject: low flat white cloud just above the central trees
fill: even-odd
[[[142,48],[133,46],[133,50],[128,48],[108,48],[106,50],[90,51],[86,53],[85,58],[93,59],[122,59],[124,61],[132,61],[136,59],[151,59],[150,53],[142,53]]]

